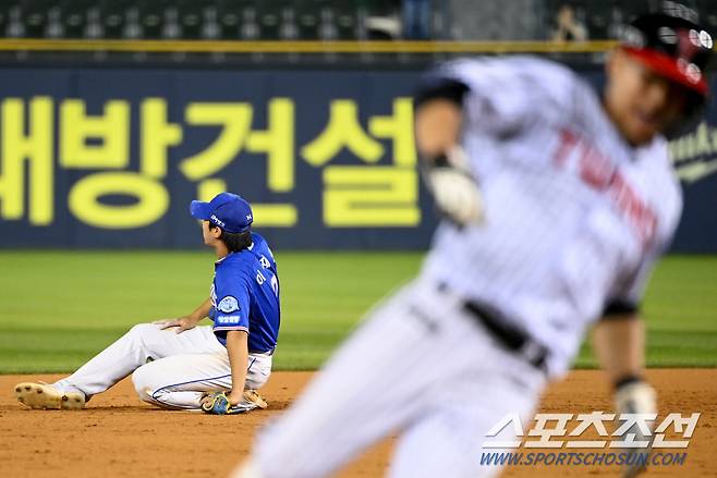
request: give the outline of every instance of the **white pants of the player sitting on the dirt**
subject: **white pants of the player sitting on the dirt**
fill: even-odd
[[[139,323],[54,385],[89,397],[130,373],[139,397],[163,408],[199,408],[203,392],[232,384],[227,348],[211,327],[177,333],[177,328]],[[270,355],[250,354],[245,389],[262,388],[270,373]]]

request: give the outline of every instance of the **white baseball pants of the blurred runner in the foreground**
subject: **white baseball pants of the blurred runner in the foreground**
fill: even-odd
[[[415,282],[374,310],[259,434],[251,463],[263,478],[325,477],[398,431],[392,478],[494,476],[498,467],[481,465],[486,432],[508,413],[532,418],[546,381],[457,298]],[[514,437],[507,428],[498,440]]]

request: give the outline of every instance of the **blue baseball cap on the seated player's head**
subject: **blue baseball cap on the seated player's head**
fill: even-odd
[[[220,193],[209,203],[193,200],[190,213],[195,219],[209,221],[232,234],[246,232],[254,222],[252,207],[241,196]]]

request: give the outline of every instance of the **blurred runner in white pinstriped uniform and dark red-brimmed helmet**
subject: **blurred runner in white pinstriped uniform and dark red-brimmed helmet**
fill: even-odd
[[[601,95],[535,58],[458,61],[424,82],[416,143],[446,218],[423,270],[234,477],[324,477],[393,431],[391,477],[495,475],[486,432],[532,417],[593,323],[618,410],[656,412],[639,306],[682,206],[663,133],[703,105],[713,47],[688,13],[633,22]]]

